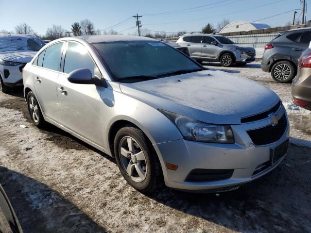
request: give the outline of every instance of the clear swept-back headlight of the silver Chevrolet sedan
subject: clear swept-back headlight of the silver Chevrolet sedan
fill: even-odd
[[[234,143],[233,133],[229,125],[207,124],[162,109],[159,109],[159,111],[172,120],[186,140],[210,143]]]

